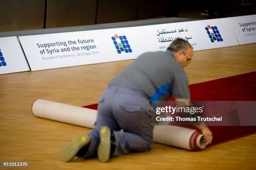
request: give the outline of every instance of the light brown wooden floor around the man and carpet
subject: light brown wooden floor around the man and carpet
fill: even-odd
[[[0,161],[29,161],[42,170],[255,170],[256,134],[190,152],[154,144],[151,151],[100,163],[63,163],[61,150],[90,129],[34,117],[38,98],[83,106],[97,102],[112,77],[133,60],[0,75]],[[189,84],[256,71],[256,44],[194,52]],[[228,135],[228,134],[227,134]]]

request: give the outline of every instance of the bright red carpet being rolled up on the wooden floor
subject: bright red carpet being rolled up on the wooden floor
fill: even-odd
[[[189,85],[189,89],[193,101],[255,101],[256,72],[200,82]],[[97,105],[84,107],[97,110]],[[209,126],[209,128],[213,133],[210,146],[256,133],[256,126]]]

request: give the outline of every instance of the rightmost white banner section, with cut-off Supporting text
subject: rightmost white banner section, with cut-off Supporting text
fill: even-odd
[[[226,20],[240,45],[256,42],[256,15],[232,17]]]

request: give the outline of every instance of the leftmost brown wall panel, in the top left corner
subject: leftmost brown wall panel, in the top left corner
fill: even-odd
[[[44,28],[44,0],[0,0],[0,32]]]

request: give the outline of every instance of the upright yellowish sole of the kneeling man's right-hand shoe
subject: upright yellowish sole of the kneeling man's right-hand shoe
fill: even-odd
[[[100,129],[100,145],[98,147],[98,159],[100,162],[108,162],[110,158],[110,128],[103,126]]]

